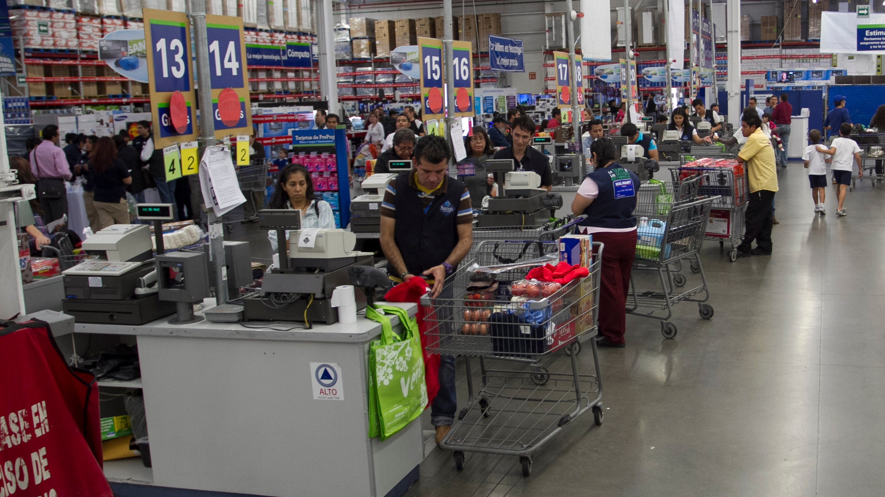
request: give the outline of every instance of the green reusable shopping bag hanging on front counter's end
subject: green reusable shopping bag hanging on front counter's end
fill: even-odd
[[[391,315],[403,323],[402,335],[393,333]],[[408,311],[375,305],[366,308],[366,317],[381,323],[381,339],[369,346],[369,438],[385,440],[427,406],[424,357],[418,324]]]

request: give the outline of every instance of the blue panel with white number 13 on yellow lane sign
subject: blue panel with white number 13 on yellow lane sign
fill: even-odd
[[[150,19],[155,91],[190,91],[188,43],[184,23]]]

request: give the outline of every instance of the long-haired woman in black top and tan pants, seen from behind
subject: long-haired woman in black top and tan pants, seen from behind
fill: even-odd
[[[126,186],[132,184],[129,168],[117,158],[117,145],[108,136],[96,141],[89,159],[98,229],[111,225],[129,224],[129,204]]]

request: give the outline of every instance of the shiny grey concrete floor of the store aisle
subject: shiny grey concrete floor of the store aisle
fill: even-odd
[[[790,163],[773,256],[730,263],[705,244],[712,320],[683,302],[666,340],[658,321],[627,317],[627,348],[600,350],[601,427],[575,420],[535,455],[529,478],[514,456],[468,453],[458,471],[436,449],[407,495],[880,495],[885,184],[849,192],[847,218],[827,190],[819,217],[801,163]],[[589,348],[579,357],[592,371]],[[562,357],[551,366],[566,368]]]

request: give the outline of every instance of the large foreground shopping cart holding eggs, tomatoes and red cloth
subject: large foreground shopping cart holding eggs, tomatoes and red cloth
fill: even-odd
[[[425,296],[427,350],[434,354],[464,356],[467,404],[458,414],[440,447],[454,450],[455,466],[464,468],[465,452],[518,455],[524,476],[532,468],[532,454],[548,440],[592,409],[594,422],[603,423],[602,381],[596,340],[589,340],[596,374],[579,374],[576,356],[581,341],[596,336],[599,270],[603,244],[589,276],[574,279],[555,293],[535,300],[512,302],[510,283],[524,279],[527,267],[494,275],[497,287],[473,289],[476,281],[489,283],[492,275],[474,272],[472,266],[526,262],[541,256],[556,262],[555,241],[484,241],[476,259],[464,264],[447,280],[437,298]],[[515,290],[514,290],[515,291]],[[513,300],[526,300],[513,297]],[[478,316],[477,316],[478,313]],[[478,334],[475,325],[479,326]],[[540,364],[559,350],[571,356],[572,371],[551,372]],[[479,390],[474,392],[471,357],[478,356]],[[490,369],[487,359],[515,363],[512,368]],[[518,366],[523,367],[520,369]]]

